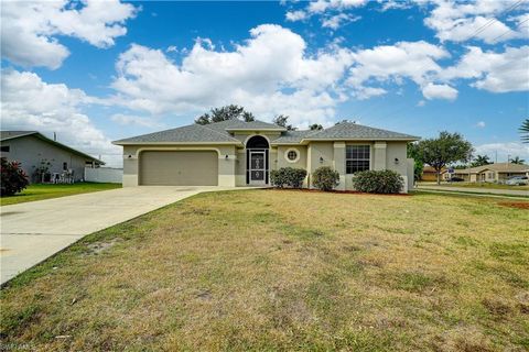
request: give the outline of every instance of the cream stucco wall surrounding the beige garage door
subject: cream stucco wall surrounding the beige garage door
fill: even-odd
[[[123,146],[123,187],[139,185],[139,158],[143,151],[216,151],[218,185],[236,185],[236,147],[234,145],[126,145]],[[227,156],[227,157],[226,157]]]

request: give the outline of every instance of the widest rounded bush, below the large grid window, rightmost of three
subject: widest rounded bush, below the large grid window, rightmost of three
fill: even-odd
[[[356,173],[353,186],[358,191],[369,194],[398,194],[404,183],[399,174],[390,169]]]

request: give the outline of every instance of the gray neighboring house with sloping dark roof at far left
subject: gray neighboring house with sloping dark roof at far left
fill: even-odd
[[[50,176],[67,172],[73,180],[78,182],[84,178],[85,166],[105,164],[36,131],[0,131],[0,155],[19,162],[32,182],[40,182],[34,175],[41,165],[47,167]]]

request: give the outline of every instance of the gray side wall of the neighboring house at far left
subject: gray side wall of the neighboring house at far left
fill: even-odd
[[[42,160],[47,160],[52,165],[50,173],[63,173],[63,163],[74,170],[74,179],[82,180],[85,174],[85,164],[88,160],[67,150],[47,143],[36,136],[28,135],[13,140],[2,141],[1,145],[9,145],[9,152],[2,152],[1,156],[9,161],[21,163],[22,169],[28,174],[31,182],[35,182],[33,173]]]

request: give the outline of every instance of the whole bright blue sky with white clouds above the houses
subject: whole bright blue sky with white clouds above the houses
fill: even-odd
[[[119,165],[110,141],[238,103],[301,128],[343,119],[461,132],[529,160],[527,1],[2,3],[2,129]]]

